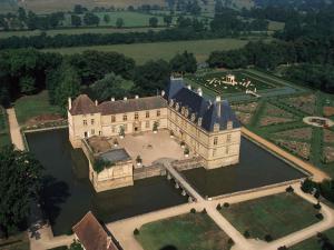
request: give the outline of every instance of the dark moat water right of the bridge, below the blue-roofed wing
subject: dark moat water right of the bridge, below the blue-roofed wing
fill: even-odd
[[[305,177],[283,160],[243,138],[238,164],[181,172],[202,196],[215,197]]]

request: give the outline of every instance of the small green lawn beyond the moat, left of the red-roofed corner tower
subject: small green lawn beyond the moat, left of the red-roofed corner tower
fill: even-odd
[[[29,119],[41,114],[59,113],[60,109],[49,103],[47,91],[35,96],[26,96],[18,99],[14,103],[19,124],[24,124]]]

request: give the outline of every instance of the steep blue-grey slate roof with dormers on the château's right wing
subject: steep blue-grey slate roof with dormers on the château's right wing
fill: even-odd
[[[196,113],[196,120],[202,117],[202,128],[208,132],[214,131],[214,124],[219,123],[220,130],[227,128],[227,122],[233,121],[233,128],[239,128],[237,120],[227,100],[212,102],[197,92],[185,87],[180,79],[171,79],[165,90],[165,99],[178,102],[180,107],[187,107],[189,113]]]

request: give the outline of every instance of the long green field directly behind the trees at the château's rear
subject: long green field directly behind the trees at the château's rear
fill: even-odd
[[[46,49],[45,51],[55,51],[63,54],[79,53],[85,50],[116,51],[134,58],[137,63],[144,63],[148,60],[156,59],[169,60],[176,53],[181,53],[187,50],[188,52],[193,52],[199,62],[204,62],[208,58],[209,53],[215,50],[230,50],[242,48],[247,44],[248,41],[249,40],[226,38],[195,41],[73,47],[61,49]]]

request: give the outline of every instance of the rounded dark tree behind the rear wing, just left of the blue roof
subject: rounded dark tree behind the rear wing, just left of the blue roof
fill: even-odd
[[[144,96],[156,94],[166,87],[170,77],[169,64],[164,60],[148,61],[135,69],[132,91]]]

